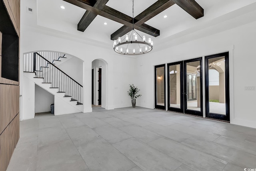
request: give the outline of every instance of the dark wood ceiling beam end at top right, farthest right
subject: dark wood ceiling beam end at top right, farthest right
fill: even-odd
[[[172,0],[195,19],[204,16],[204,9],[195,0]]]

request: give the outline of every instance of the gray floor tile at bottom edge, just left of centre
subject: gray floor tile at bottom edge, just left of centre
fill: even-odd
[[[78,146],[90,171],[128,171],[136,165],[103,138]]]

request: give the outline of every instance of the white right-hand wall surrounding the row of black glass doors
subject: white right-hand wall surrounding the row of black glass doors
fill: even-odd
[[[223,24],[224,25],[224,24]],[[154,108],[154,65],[182,61],[229,51],[230,55],[230,123],[256,128],[254,112],[256,91],[245,91],[244,86],[255,86],[252,69],[256,63],[256,22],[220,33],[182,42],[192,35],[174,39],[166,49],[137,58],[137,81],[142,90],[138,106]],[[205,31],[205,30],[203,30]],[[192,33],[200,35],[202,31]],[[203,34],[203,33],[202,33]],[[156,48],[156,47],[154,47]]]

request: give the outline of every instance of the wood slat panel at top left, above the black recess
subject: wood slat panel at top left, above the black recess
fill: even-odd
[[[20,0],[3,0],[12,24],[20,37]]]

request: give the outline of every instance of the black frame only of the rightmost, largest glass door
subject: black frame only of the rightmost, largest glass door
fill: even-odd
[[[225,107],[226,115],[210,113],[209,104],[209,66],[208,60],[214,57],[225,57]],[[213,118],[223,121],[230,121],[230,90],[229,90],[229,52],[218,53],[215,55],[209,55],[205,57],[205,114],[206,118]]]

